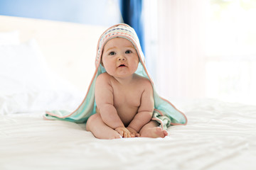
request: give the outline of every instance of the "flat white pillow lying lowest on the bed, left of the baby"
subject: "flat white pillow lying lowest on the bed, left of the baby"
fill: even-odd
[[[77,91],[44,89],[0,94],[0,115],[12,113],[44,113],[52,110],[75,111],[85,94]]]

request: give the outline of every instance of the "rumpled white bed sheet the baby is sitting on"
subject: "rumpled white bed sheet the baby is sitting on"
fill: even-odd
[[[0,169],[255,169],[256,106],[176,103],[188,125],[162,138],[98,140],[42,112],[0,115]]]

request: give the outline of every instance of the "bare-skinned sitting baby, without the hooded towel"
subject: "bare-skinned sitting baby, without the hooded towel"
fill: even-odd
[[[97,77],[97,110],[87,120],[86,130],[100,139],[165,137],[166,130],[151,120],[154,111],[151,82],[135,74],[137,50],[126,38],[112,38],[102,52],[106,72]]]

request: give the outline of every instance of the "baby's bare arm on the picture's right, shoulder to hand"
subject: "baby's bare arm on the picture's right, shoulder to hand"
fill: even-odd
[[[149,123],[154,111],[153,88],[150,81],[146,81],[144,86],[145,89],[142,93],[142,101],[141,105],[139,106],[138,113],[134,116],[134,119],[127,127],[128,129],[132,128],[137,132],[139,132],[139,130],[141,130],[146,123]]]

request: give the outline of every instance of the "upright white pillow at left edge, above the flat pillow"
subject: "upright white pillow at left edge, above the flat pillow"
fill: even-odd
[[[47,88],[45,67],[36,41],[0,46],[0,94]],[[46,86],[42,86],[46,85]]]

